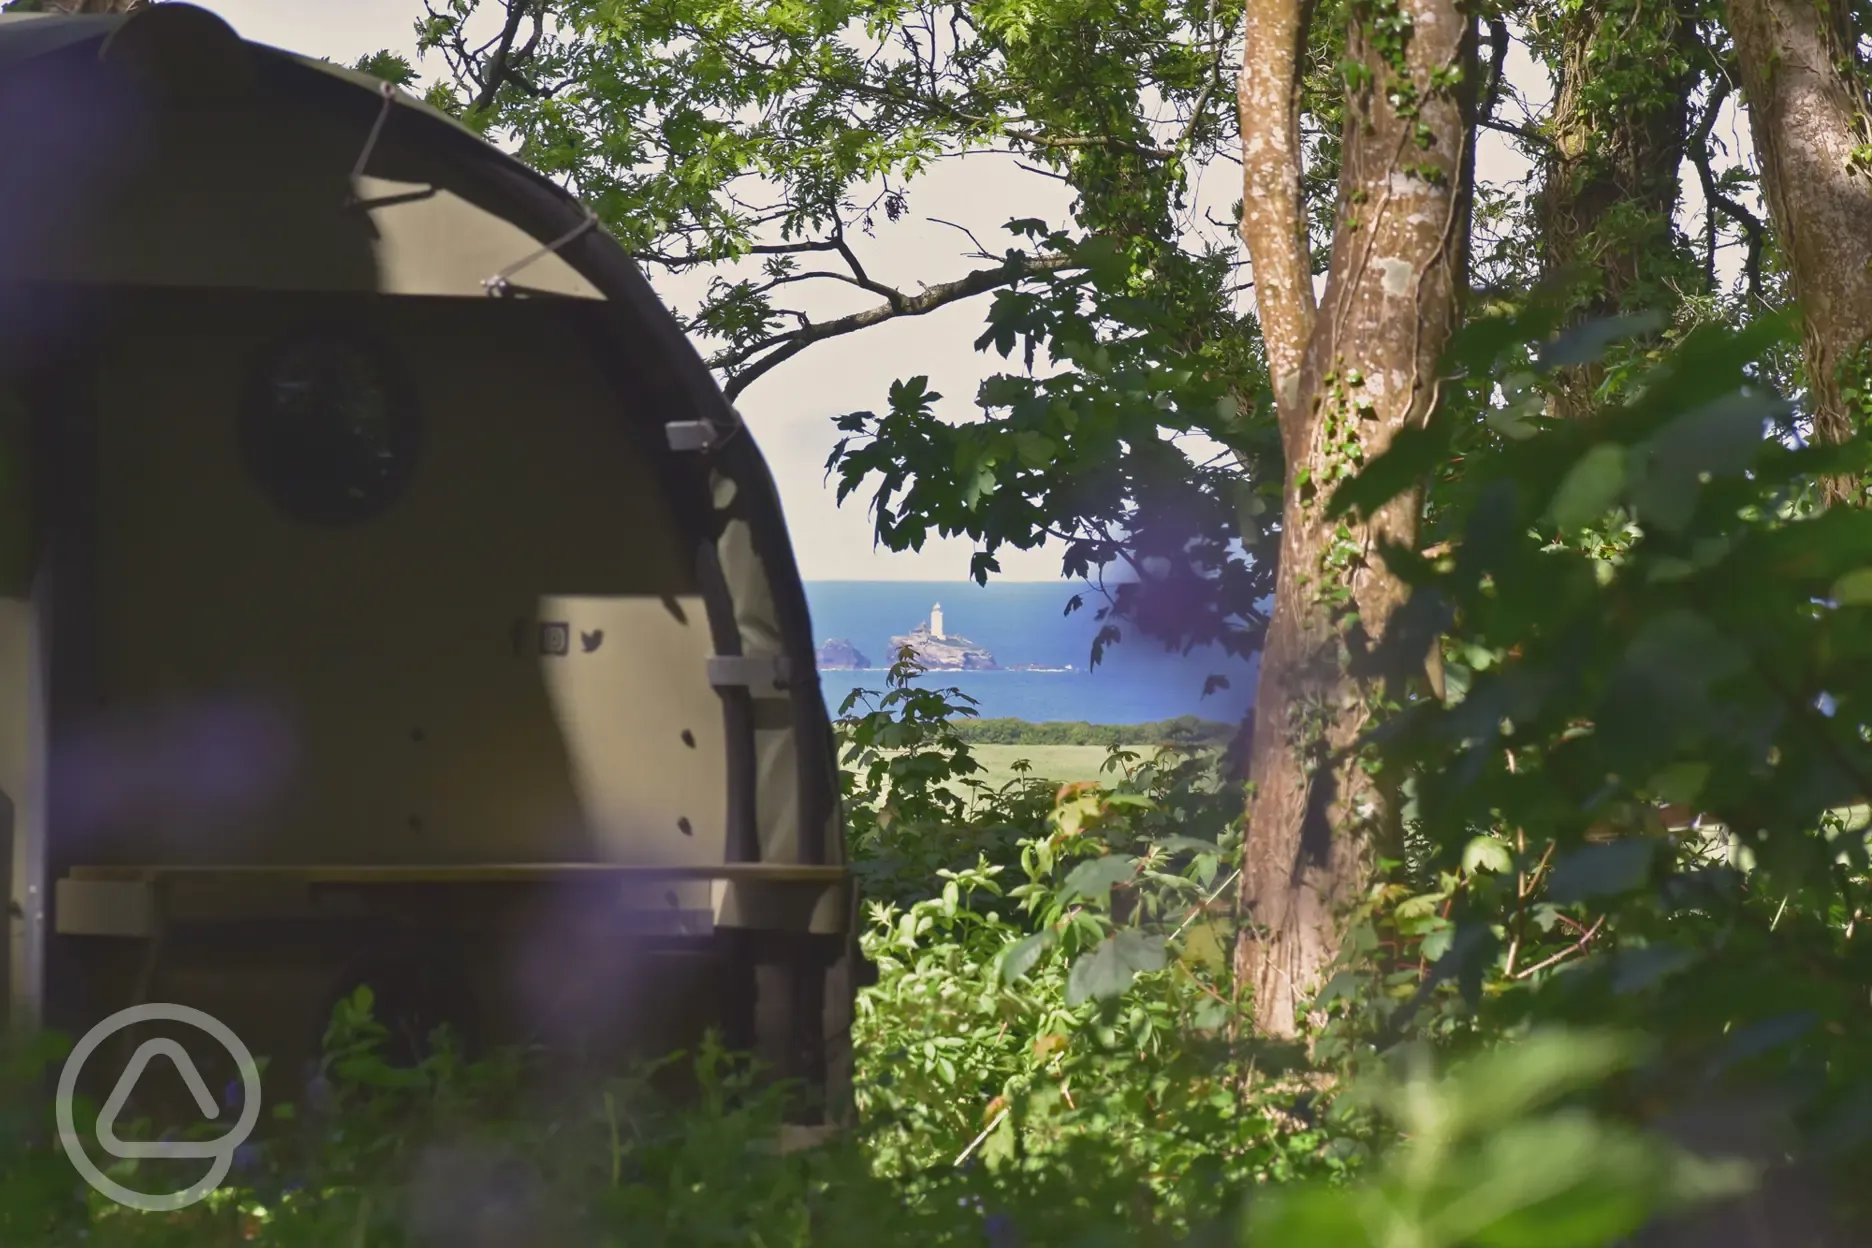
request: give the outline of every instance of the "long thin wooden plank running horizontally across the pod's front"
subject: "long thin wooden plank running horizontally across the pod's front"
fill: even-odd
[[[563,879],[728,879],[734,883],[837,885],[850,879],[844,866],[801,863],[711,863],[702,866],[629,866],[622,863],[408,863],[408,864],[131,864],[82,866],[67,870],[69,879],[86,881],[161,881],[245,878],[305,885],[410,885],[410,883],[552,883]]]

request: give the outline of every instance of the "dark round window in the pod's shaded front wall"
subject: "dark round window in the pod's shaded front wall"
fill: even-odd
[[[416,404],[389,354],[343,333],[268,352],[241,412],[241,451],[271,500],[307,524],[358,524],[416,468]]]

